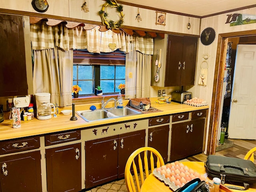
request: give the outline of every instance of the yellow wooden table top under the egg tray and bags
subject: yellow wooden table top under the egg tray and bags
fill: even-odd
[[[182,162],[185,166],[193,169],[194,171],[200,174],[206,174],[204,168],[204,162]],[[207,181],[207,180],[206,180]],[[164,184],[164,182],[160,181],[156,178],[152,173],[146,178],[144,183],[140,188],[140,192],[171,192],[172,190]],[[226,189],[224,187],[221,188],[220,192],[241,192],[241,190],[234,189]],[[250,188],[246,190],[246,192],[256,192],[256,184],[250,184]]]

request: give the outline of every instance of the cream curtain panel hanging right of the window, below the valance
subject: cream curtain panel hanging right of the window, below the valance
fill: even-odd
[[[138,51],[126,54],[125,98],[150,97],[151,58]]]

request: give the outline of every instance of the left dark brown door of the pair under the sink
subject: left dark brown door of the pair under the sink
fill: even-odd
[[[86,188],[117,179],[118,136],[85,142]]]

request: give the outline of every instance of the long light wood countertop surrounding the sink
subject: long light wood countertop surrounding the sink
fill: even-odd
[[[72,130],[72,129],[78,129],[78,128],[90,128],[93,126],[102,126],[104,124],[111,124],[111,123],[117,123],[122,121],[128,121],[128,120],[138,120],[143,118],[150,118],[154,116],[161,116],[161,115],[167,115],[167,114],[175,114],[175,113],[181,113],[181,112],[188,112],[188,111],[194,111],[194,110],[200,110],[200,109],[208,109],[209,106],[201,106],[201,107],[194,107],[189,106],[185,104],[178,104],[175,102],[166,103],[166,104],[158,104],[155,103],[155,100],[157,98],[150,98],[151,105],[154,108],[157,108],[159,110],[162,110],[162,112],[152,112],[148,114],[138,114],[138,115],[132,115],[132,116],[126,116],[126,117],[118,117],[118,118],[111,118],[111,119],[104,119],[100,121],[94,121],[94,122],[86,122],[82,118],[80,118],[77,114],[78,120],[71,121],[70,115],[64,115],[61,113],[64,109],[72,109],[72,106],[67,106],[64,108],[59,108],[59,114],[56,118],[52,117],[48,120],[38,120],[36,117],[30,121],[22,121],[20,128],[12,128],[12,120],[4,120],[2,123],[0,123],[0,140],[8,140],[8,139],[14,139],[14,138],[21,138],[21,137],[27,137],[27,136],[35,136],[35,135],[42,135],[52,132],[59,132],[59,131],[65,131],[65,130]],[[124,105],[126,105],[128,100],[124,100]],[[81,104],[75,106],[75,111],[80,110],[89,110],[90,106],[96,106],[97,109],[101,107],[101,103],[95,103],[95,104]],[[110,108],[114,106],[114,102],[109,102],[109,104],[106,106],[106,108]]]

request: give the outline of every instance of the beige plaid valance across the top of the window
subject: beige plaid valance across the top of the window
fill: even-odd
[[[65,51],[70,49],[87,49],[92,53],[112,52],[109,44],[116,44],[116,49],[129,52],[130,40],[134,39],[134,50],[152,55],[154,41],[149,36],[130,36],[121,31],[116,34],[111,30],[100,32],[99,26],[84,30],[82,26],[69,29],[65,24],[48,26],[45,22],[30,25],[30,35],[33,50],[44,50],[59,47]]]

